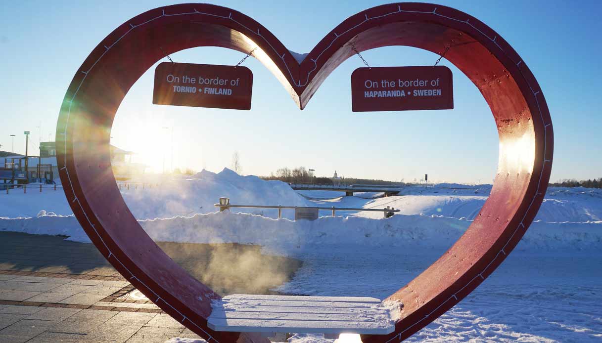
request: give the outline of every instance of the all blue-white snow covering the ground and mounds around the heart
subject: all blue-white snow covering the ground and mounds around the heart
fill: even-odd
[[[155,240],[260,244],[267,252],[302,259],[303,267],[278,288],[281,292],[384,298],[462,235],[490,190],[491,185],[447,184],[408,187],[386,198],[345,197],[326,191],[297,193],[282,182],[224,170],[122,194]],[[276,219],[276,210],[216,212],[213,204],[220,196],[232,203],[393,206],[402,212],[385,219],[380,212],[338,211],[337,217],[329,217],[330,211],[323,211],[318,220],[293,221],[288,219],[293,217],[290,210],[281,219]],[[0,230],[89,241],[70,214],[60,191],[0,194]],[[550,188],[536,221],[501,267],[408,341],[602,341],[601,248],[602,190]],[[291,342],[332,340],[297,335]]]

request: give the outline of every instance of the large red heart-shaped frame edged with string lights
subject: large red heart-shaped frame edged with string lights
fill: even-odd
[[[301,64],[276,37],[242,13],[208,4],[156,8],[123,23],[92,51],[69,85],[57,126],[58,165],[73,212],[102,254],[164,311],[210,342],[267,342],[249,333],[213,332],[219,298],[146,235],[111,172],[109,138],[120,102],[165,55],[196,46],[249,52],[290,90],[300,108],[340,63],[358,51],[406,45],[445,58],[479,88],[500,138],[491,196],[458,242],[389,298],[403,301],[396,331],[364,342],[401,341],[458,303],[503,261],[541,205],[553,152],[550,113],[526,64],[491,28],[453,8],[382,5],[344,20]],[[161,51],[160,47],[163,49]]]

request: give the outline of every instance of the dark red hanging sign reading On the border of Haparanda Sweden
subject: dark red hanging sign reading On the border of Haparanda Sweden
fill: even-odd
[[[445,66],[358,68],[351,74],[353,112],[450,110],[452,70]]]

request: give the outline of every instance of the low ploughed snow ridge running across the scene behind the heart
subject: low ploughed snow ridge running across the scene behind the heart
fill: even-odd
[[[138,222],[155,241],[258,244],[282,253],[327,246],[443,249],[452,246],[471,223],[436,215],[394,215],[378,220],[356,216],[320,217],[314,221],[292,221],[229,211]],[[73,215],[41,212],[32,218],[0,218],[0,230],[64,235],[73,241],[90,242]],[[596,250],[601,245],[602,221],[534,221],[517,249]]]

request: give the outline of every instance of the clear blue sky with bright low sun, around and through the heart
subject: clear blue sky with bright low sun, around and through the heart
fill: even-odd
[[[309,52],[346,17],[388,1],[223,1],[261,22],[289,49]],[[85,57],[114,28],[173,1],[12,1],[0,22],[1,150],[30,153],[54,131],[67,86]],[[529,65],[544,91],[554,123],[552,181],[602,176],[602,2],[438,1],[495,29]],[[321,8],[321,10],[316,10]],[[371,66],[432,65],[437,56],[415,48],[366,51]],[[196,48],[172,55],[187,63],[235,64],[244,54]],[[317,175],[412,181],[491,182],[497,168],[497,131],[479,91],[451,66],[455,109],[352,113],[350,74],[363,64],[350,58],[297,110],[274,76],[253,58],[251,111],[152,105],[154,67],[132,87],[117,113],[112,143],[140,153],[160,170],[174,128],[174,166],[218,171],[235,150],[243,172],[267,175],[304,165]]]

